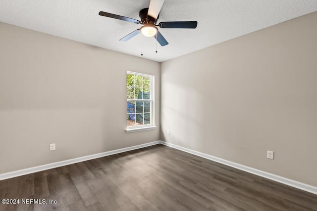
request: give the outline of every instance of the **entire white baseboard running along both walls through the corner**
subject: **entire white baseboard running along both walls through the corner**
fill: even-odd
[[[217,158],[217,157],[205,154],[205,153],[197,152],[195,150],[187,149],[185,147],[177,146],[175,144],[171,144],[171,143],[168,143],[165,141],[153,141],[150,143],[145,143],[145,144],[126,147],[126,148],[122,148],[122,149],[102,152],[102,153],[98,153],[98,154],[94,154],[94,155],[88,155],[88,156],[84,156],[84,157],[80,157],[80,158],[74,158],[74,159],[60,161],[60,162],[51,163],[51,164],[46,164],[46,165],[42,165],[42,166],[31,167],[28,169],[21,169],[21,170],[11,171],[11,172],[7,172],[7,173],[1,173],[0,180],[9,179],[9,178],[16,177],[16,176],[22,176],[25,174],[34,173],[34,172],[38,172],[38,171],[42,171],[42,170],[53,169],[53,168],[66,166],[66,165],[70,165],[70,164],[74,164],[74,163],[79,163],[79,162],[83,162],[83,161],[88,161],[88,160],[92,160],[92,159],[96,159],[96,158],[101,158],[101,157],[105,157],[108,155],[114,155],[114,154],[118,154],[121,152],[127,152],[127,151],[131,151],[131,150],[135,150],[135,149],[153,146],[156,144],[162,144],[162,145],[172,147],[172,148],[175,148],[175,149],[187,152],[187,153],[191,153],[193,155],[197,155],[199,157],[206,158],[208,160],[215,161],[217,163],[224,164],[226,166],[233,167],[235,169],[247,171],[249,173],[253,173],[253,174],[262,176],[264,178],[271,179],[271,180],[274,180],[276,182],[280,182],[280,183],[283,183],[283,184],[286,184],[286,185],[289,185],[289,186],[292,186],[292,187],[295,187],[295,188],[298,188],[298,189],[301,189],[301,190],[304,190],[304,191],[307,191],[307,192],[310,192],[310,193],[317,195],[317,187],[315,187],[315,186],[308,185],[308,184],[305,184],[302,182],[298,182],[298,181],[295,181],[292,179],[288,179],[286,177],[278,176],[276,174],[268,173],[268,172],[265,172],[265,171],[262,171],[259,169],[254,169],[251,167],[243,166],[241,164],[237,164],[237,163],[234,163],[231,161]]]

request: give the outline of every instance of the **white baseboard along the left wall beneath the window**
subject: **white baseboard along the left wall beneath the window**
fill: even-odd
[[[92,159],[96,159],[96,158],[101,158],[101,157],[105,157],[108,155],[118,154],[121,152],[127,152],[127,151],[131,151],[131,150],[135,150],[135,149],[140,149],[143,147],[148,147],[148,146],[160,144],[161,142],[162,141],[153,141],[150,143],[140,144],[140,145],[126,147],[126,148],[122,148],[122,149],[111,150],[111,151],[102,152],[102,153],[98,153],[98,154],[94,154],[94,155],[80,157],[80,158],[74,158],[74,159],[69,159],[69,160],[60,161],[60,162],[56,162],[56,163],[45,164],[42,166],[31,167],[31,168],[21,169],[21,170],[16,170],[16,171],[10,171],[7,173],[1,173],[0,180],[9,179],[9,178],[16,177],[16,176],[22,176],[25,174],[34,173],[34,172],[38,172],[38,171],[42,171],[42,170],[53,169],[56,167],[66,166],[69,164],[88,161],[88,160],[92,160]]]

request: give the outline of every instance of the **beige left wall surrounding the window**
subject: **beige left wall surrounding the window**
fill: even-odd
[[[0,173],[159,140],[158,62],[3,23],[0,37]],[[157,129],[125,132],[126,71],[155,75]]]

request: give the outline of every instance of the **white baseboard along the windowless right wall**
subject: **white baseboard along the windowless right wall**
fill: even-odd
[[[168,143],[168,142],[165,142],[165,141],[160,141],[160,144],[163,144],[165,146],[169,146],[169,147],[172,147],[172,148],[184,151],[184,152],[188,152],[188,153],[191,153],[193,155],[197,155],[199,157],[206,158],[208,160],[215,161],[217,163],[224,164],[224,165],[229,166],[229,167],[233,167],[235,169],[240,169],[240,170],[243,170],[243,171],[247,171],[249,173],[253,173],[253,174],[262,176],[264,178],[271,179],[271,180],[274,180],[276,182],[280,182],[280,183],[283,183],[285,185],[289,185],[289,186],[292,186],[292,187],[295,187],[295,188],[298,188],[298,189],[301,189],[301,190],[304,190],[304,191],[307,191],[307,192],[310,192],[310,193],[313,193],[313,194],[317,195],[317,187],[312,186],[312,185],[308,185],[308,184],[305,184],[305,183],[302,183],[302,182],[298,182],[298,181],[295,181],[295,180],[292,180],[292,179],[288,179],[286,177],[278,176],[276,174],[268,173],[268,172],[265,172],[265,171],[262,171],[262,170],[259,170],[259,169],[254,169],[254,168],[251,168],[251,167],[243,166],[241,164],[237,164],[237,163],[234,163],[234,162],[231,162],[231,161],[227,161],[227,160],[224,160],[224,159],[221,159],[221,158],[217,158],[217,157],[205,154],[205,153],[197,152],[195,150],[187,149],[185,147],[177,146],[175,144],[171,144],[171,143]]]

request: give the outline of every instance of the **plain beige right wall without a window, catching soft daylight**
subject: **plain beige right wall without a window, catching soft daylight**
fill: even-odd
[[[317,12],[163,62],[161,139],[317,186],[316,26]]]

